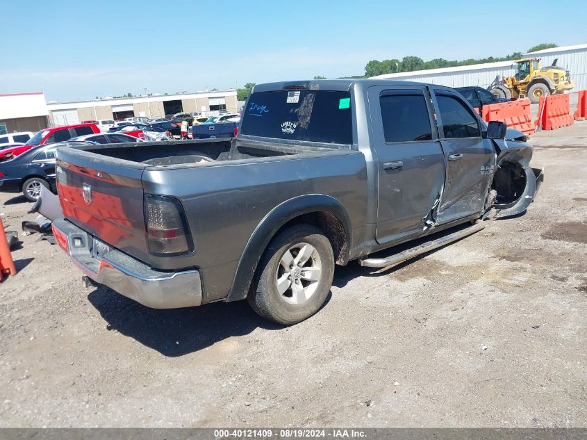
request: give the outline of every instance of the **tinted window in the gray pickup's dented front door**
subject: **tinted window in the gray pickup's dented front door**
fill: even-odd
[[[444,138],[477,138],[481,136],[477,119],[454,97],[436,95],[438,111],[443,121]]]

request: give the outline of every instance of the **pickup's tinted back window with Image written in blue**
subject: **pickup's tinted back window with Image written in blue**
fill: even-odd
[[[272,90],[249,97],[241,133],[329,144],[353,143],[350,92]]]

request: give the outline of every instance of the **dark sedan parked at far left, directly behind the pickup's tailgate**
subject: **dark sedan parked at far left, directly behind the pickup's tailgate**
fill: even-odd
[[[56,191],[55,150],[59,146],[76,148],[93,142],[57,142],[29,149],[12,161],[0,163],[0,191],[20,193],[31,202],[38,199],[41,186]]]

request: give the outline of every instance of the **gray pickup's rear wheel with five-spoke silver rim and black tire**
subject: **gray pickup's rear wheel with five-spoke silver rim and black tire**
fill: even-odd
[[[276,236],[265,250],[247,300],[265,319],[297,324],[322,307],[333,275],[328,238],[312,225],[295,225]]]

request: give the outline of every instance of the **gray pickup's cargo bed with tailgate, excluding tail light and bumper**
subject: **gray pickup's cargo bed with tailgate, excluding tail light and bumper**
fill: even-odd
[[[356,225],[367,211],[365,157],[332,146],[224,138],[60,147],[57,185],[65,218],[99,241],[156,270],[199,268],[207,279],[204,302],[226,295],[232,280],[222,274],[235,270],[249,237],[279,204],[330,195],[356,207]],[[193,250],[149,253],[145,194],[181,202]]]

